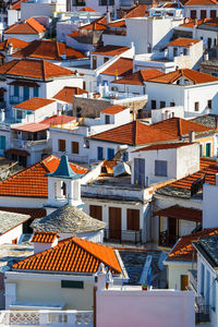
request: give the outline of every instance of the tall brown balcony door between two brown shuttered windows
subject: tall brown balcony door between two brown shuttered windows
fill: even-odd
[[[121,240],[121,208],[109,208],[110,239]]]

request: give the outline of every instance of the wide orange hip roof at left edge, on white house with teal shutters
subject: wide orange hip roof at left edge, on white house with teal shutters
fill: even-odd
[[[0,74],[28,77],[35,81],[49,81],[55,77],[72,76],[74,72],[46,60],[14,59],[0,66]]]

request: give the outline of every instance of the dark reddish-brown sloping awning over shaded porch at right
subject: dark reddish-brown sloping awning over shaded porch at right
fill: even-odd
[[[189,221],[202,222],[202,210],[194,208],[185,208],[179,205],[168,207],[153,213],[155,216],[164,216],[174,219],[182,219]]]

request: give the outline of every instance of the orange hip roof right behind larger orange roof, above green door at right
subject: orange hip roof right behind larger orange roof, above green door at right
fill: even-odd
[[[153,126],[162,132],[168,132],[173,136],[187,136],[190,132],[195,132],[197,135],[215,132],[211,128],[178,117],[162,120],[153,124]]]

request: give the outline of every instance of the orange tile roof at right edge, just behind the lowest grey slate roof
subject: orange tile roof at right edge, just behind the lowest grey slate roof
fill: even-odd
[[[192,242],[214,234],[218,234],[218,228],[208,228],[203,231],[182,237],[168,255],[167,261],[192,262],[193,258],[196,261],[196,251],[194,250]]]

